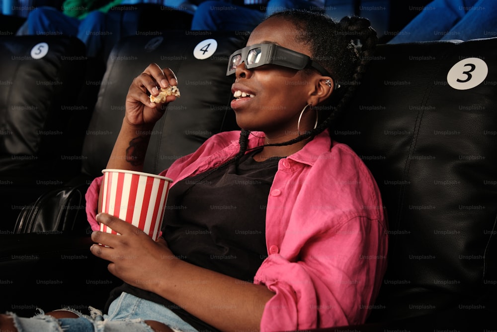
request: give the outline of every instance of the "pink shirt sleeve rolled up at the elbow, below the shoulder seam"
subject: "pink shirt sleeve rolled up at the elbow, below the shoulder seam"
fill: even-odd
[[[363,323],[386,269],[387,235],[378,221],[355,217],[309,238],[298,257],[271,254],[255,275],[276,294],[261,331]]]

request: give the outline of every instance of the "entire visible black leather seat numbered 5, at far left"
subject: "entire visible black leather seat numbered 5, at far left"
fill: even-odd
[[[86,58],[74,37],[1,36],[0,48],[0,230],[11,230],[21,207],[80,167]]]

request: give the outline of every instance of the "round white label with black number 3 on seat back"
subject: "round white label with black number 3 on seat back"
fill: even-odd
[[[447,73],[447,82],[457,90],[468,90],[482,83],[489,67],[480,58],[467,58],[456,63]]]

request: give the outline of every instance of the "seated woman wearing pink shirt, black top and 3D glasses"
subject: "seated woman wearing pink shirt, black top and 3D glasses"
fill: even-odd
[[[375,44],[361,18],[287,11],[259,24],[227,71],[243,130],[214,135],[161,173],[174,179],[165,239],[109,215],[95,220],[101,178],[92,183],[92,228],[101,222],[122,234],[91,235],[108,246],[91,252],[125,282],[109,301],[107,329],[132,319],[141,320],[133,331],[285,331],[366,320],[386,268],[386,221],[371,174],[327,128]],[[149,94],[176,84],[155,64],[133,81],[108,168],[142,170],[148,137],[137,133],[163,114]]]

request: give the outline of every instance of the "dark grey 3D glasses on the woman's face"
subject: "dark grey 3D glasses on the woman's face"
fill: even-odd
[[[309,56],[276,44],[255,44],[233,52],[228,62],[226,76],[234,74],[237,66],[242,62],[245,62],[247,69],[272,64],[297,70],[314,68],[324,76],[331,76],[323,66],[311,60]]]

